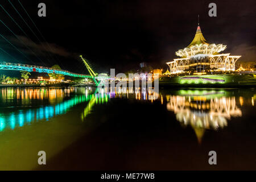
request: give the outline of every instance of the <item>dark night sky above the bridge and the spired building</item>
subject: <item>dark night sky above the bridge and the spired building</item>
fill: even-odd
[[[0,34],[26,55],[0,37],[0,48],[12,56],[0,50],[1,61],[48,67],[59,64],[63,69],[84,73],[86,69],[79,59],[82,54],[98,72],[109,72],[110,68],[119,72],[138,69],[142,61],[166,69],[166,61],[177,58],[175,51],[192,41],[197,14],[207,42],[227,45],[224,52],[242,55],[242,61],[256,61],[255,0],[19,1],[45,40],[18,1],[11,2],[34,33],[10,2],[2,0],[0,5],[27,36],[0,7],[0,19],[18,38],[1,22]],[[40,2],[46,3],[45,18],[38,16]],[[208,16],[210,2],[217,5],[217,17]]]

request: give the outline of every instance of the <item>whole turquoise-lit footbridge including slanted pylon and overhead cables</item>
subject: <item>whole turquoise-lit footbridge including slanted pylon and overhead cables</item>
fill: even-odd
[[[32,35],[34,35],[34,38],[36,38],[36,41],[38,43],[40,43],[40,45],[43,46],[44,50],[47,51],[47,56],[50,56],[51,60],[55,60],[52,57],[51,53],[49,53],[49,52],[52,52],[51,46],[49,46],[49,44],[47,43],[46,39],[44,38],[42,32],[36,26],[35,22],[31,19],[31,16],[28,14],[28,11],[24,8],[22,3],[19,0],[16,3],[16,5],[14,5],[10,0],[8,0],[8,2],[10,3],[11,7],[13,7],[14,11],[16,11],[16,14],[19,15],[18,17],[22,20],[22,22],[24,24],[26,24],[26,26],[28,27],[28,29],[30,30]],[[9,17],[10,20],[19,28],[19,30],[23,32],[22,36],[25,36],[27,38],[27,40],[30,41],[31,43],[36,44],[36,42],[32,41],[31,37],[28,36],[30,34],[28,34],[28,32],[25,29],[23,29],[22,26],[20,26],[19,22],[17,20],[15,20],[15,17],[12,16],[8,12],[8,10],[5,9],[5,7],[3,7],[3,5],[1,5],[1,4],[0,4],[0,10],[3,10],[3,12],[7,15],[7,17]],[[22,9],[23,14],[25,13],[25,15],[26,15],[26,18],[25,18],[25,16],[22,16],[22,13],[20,13],[18,11],[18,8],[15,7],[15,6],[19,6]],[[28,20],[30,21],[30,23],[32,23],[32,26],[30,26],[30,23],[28,23]],[[9,30],[11,35],[13,35],[16,38],[16,40],[19,40],[19,43],[22,44],[22,46],[26,47],[27,51],[32,53],[32,55],[34,55],[39,61],[41,61],[42,64],[45,64],[44,61],[42,59],[40,59],[40,57],[38,57],[36,55],[36,53],[30,47],[30,45],[26,41],[24,41],[22,38],[20,38],[19,35],[15,34],[15,30],[12,30],[1,19],[0,19],[0,24],[2,24],[3,27],[5,27],[7,30]],[[36,29],[34,29],[33,27],[36,28]],[[36,31],[34,31],[33,29],[36,30]],[[36,32],[39,32],[40,36],[37,35]],[[28,57],[25,53],[23,53],[23,51],[21,51],[18,46],[15,46],[15,44],[11,43],[11,41],[8,40],[8,38],[6,38],[6,36],[3,36],[2,32],[0,32],[0,38],[2,38],[7,43],[9,43],[10,46],[13,47],[14,49],[16,49],[16,51],[18,51],[22,56],[24,56],[24,58],[26,58],[27,60],[30,60],[31,63],[33,63],[32,59],[30,59],[30,57]],[[40,39],[43,39],[46,44],[44,44]],[[11,57],[13,57],[15,59],[15,57],[13,55],[11,55],[10,53],[8,53],[7,51],[5,51],[5,49],[0,48],[0,51],[2,51],[6,55],[11,56]],[[104,73],[97,74],[96,72],[94,72],[93,69],[89,66],[88,60],[84,59],[82,56],[80,56],[80,57],[81,57],[82,61],[84,62],[85,66],[86,66],[86,68],[87,68],[87,70],[89,72],[89,75],[84,75],[84,74],[80,74],[80,73],[73,73],[73,72],[69,72],[69,71],[63,70],[63,69],[49,68],[49,67],[43,67],[43,66],[37,66],[37,65],[20,64],[20,63],[6,63],[6,62],[1,62],[1,61],[0,61],[0,70],[5,69],[5,70],[12,70],[12,71],[28,71],[28,72],[39,72],[39,73],[56,73],[56,74],[61,74],[61,75],[71,76],[71,77],[92,78],[96,85],[100,84],[100,82],[102,80],[106,80],[106,79],[109,78],[109,76],[107,74],[104,74]],[[49,59],[45,59],[45,60],[49,60]]]

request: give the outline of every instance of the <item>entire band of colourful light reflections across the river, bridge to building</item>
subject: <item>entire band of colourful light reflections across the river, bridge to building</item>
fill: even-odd
[[[232,90],[179,89],[162,90],[158,94],[134,88],[4,88],[0,92],[0,131],[48,121],[82,103],[84,109],[80,118],[83,122],[94,105],[107,104],[113,98],[119,98],[167,105],[167,110],[176,114],[182,126],[191,126],[195,130],[201,142],[206,129],[223,129],[232,117],[242,117],[242,106],[248,103],[254,106],[254,93],[245,97],[240,90],[234,93]]]

